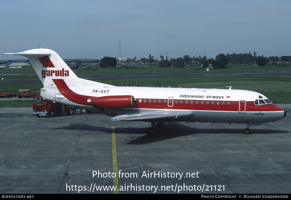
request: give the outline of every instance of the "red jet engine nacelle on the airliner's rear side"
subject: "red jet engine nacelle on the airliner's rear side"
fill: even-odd
[[[130,95],[93,97],[87,100],[87,104],[102,108],[128,108],[134,105],[134,98]]]

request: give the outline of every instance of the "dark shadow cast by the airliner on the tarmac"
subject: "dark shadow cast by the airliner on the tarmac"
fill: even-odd
[[[149,124],[150,125],[150,124]],[[146,128],[144,125],[142,127],[116,127],[115,134],[131,134],[130,137],[127,137],[129,141],[125,144],[149,144],[152,142],[159,142],[163,140],[168,140],[172,138],[178,138],[181,136],[196,135],[196,134],[205,134],[215,135],[215,134],[244,134],[242,128],[191,128],[184,124],[174,122],[167,123],[166,129],[162,132],[159,132],[156,136],[149,137],[146,135]],[[209,125],[211,126],[211,125]],[[112,127],[106,126],[91,126],[87,124],[70,124],[58,128],[52,128],[54,130],[80,130],[80,131],[101,131],[104,133],[111,134]],[[253,129],[252,134],[277,134],[277,133],[290,133],[290,131],[281,131],[274,129]],[[94,133],[93,133],[94,134]],[[98,134],[98,133],[96,133]]]

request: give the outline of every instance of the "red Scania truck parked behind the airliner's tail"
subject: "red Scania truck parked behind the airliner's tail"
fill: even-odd
[[[67,115],[74,115],[76,108],[72,106],[65,105],[63,103],[57,103],[44,99],[41,96],[35,96],[33,98],[33,115],[36,117],[49,116],[52,117],[58,114],[67,113]]]

